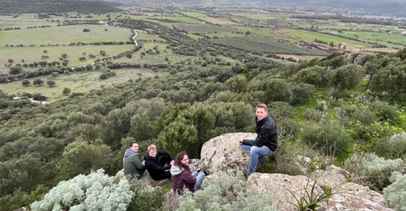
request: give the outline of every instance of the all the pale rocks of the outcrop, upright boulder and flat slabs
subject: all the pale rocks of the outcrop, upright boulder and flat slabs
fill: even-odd
[[[238,147],[241,137],[255,136],[255,133],[227,133],[219,135],[204,143],[202,147],[199,167],[206,167],[210,174],[217,171],[246,171],[249,157]],[[307,160],[308,158],[304,158]],[[197,162],[197,161],[195,161]],[[196,165],[196,163],[194,163]],[[303,171],[303,174],[307,173]],[[321,203],[320,210],[328,211],[392,211],[385,205],[379,192],[370,190],[369,187],[348,182],[345,170],[328,165],[326,170],[316,170],[309,176],[253,173],[247,180],[247,190],[257,188],[261,192],[271,192],[274,195],[273,205],[279,211],[296,210],[293,194],[300,199],[311,192],[311,187],[316,182],[314,192],[322,194],[323,188],[331,190],[334,194]],[[323,187],[323,188],[322,188]],[[293,204],[292,204],[293,203]]]

